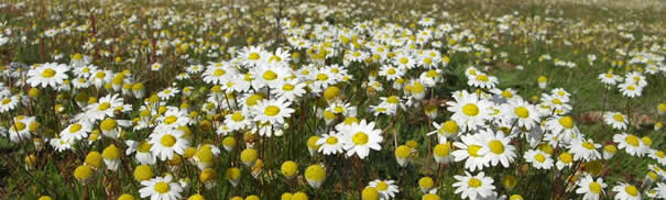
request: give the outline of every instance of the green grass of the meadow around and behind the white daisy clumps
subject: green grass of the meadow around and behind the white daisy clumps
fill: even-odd
[[[607,90],[598,79],[599,74],[609,69],[613,69],[616,75],[645,70],[645,66],[642,64],[616,65],[619,62],[626,63],[632,58],[622,56],[618,49],[640,52],[649,49],[653,44],[666,44],[664,40],[666,30],[662,24],[663,11],[659,9],[663,5],[659,2],[654,2],[654,7],[643,9],[619,7],[614,3],[577,4],[554,1],[493,1],[491,4],[487,4],[488,1],[457,0],[418,0],[417,2],[384,0],[340,2],[340,4],[328,1],[312,2],[328,7],[318,11],[295,8],[307,1],[282,2],[284,8],[281,8],[281,2],[233,1],[219,2],[219,7],[215,7],[211,1],[152,2],[140,0],[113,3],[110,1],[65,0],[28,1],[23,8],[8,5],[0,8],[0,22],[7,21],[6,27],[10,27],[14,33],[21,33],[12,34],[13,41],[21,41],[21,36],[24,35],[25,42],[13,42],[0,46],[0,66],[9,65],[12,62],[28,65],[42,64],[53,60],[54,55],[57,54],[64,57],[61,62],[68,63],[70,55],[79,53],[91,56],[94,64],[100,68],[114,73],[130,70],[133,81],[144,84],[149,95],[156,93],[172,84],[177,84],[178,87],[193,86],[195,87],[193,96],[177,96],[162,103],[174,107],[185,103],[195,108],[192,111],[200,112],[201,120],[189,125],[194,134],[192,146],[196,148],[198,144],[211,143],[221,148],[220,141],[223,136],[215,134],[215,130],[219,129],[216,125],[223,124],[225,114],[229,114],[236,109],[217,108],[217,111],[207,114],[205,103],[206,98],[211,93],[209,89],[212,86],[204,84],[200,78],[179,81],[174,77],[193,63],[206,65],[207,62],[230,60],[233,57],[233,54],[228,52],[230,48],[240,49],[247,45],[274,41],[280,34],[276,34],[277,29],[274,29],[275,23],[271,18],[281,16],[281,12],[290,13],[288,16],[301,24],[308,24],[309,22],[306,22],[308,18],[313,19],[313,24],[323,23],[328,19],[325,19],[321,12],[328,10],[334,11],[329,19],[332,19],[338,26],[352,26],[357,22],[374,20],[378,24],[395,23],[417,33],[422,30],[416,25],[422,19],[421,16],[433,16],[437,23],[457,26],[451,34],[447,34],[440,40],[446,44],[444,47],[425,45],[427,48],[449,56],[451,60],[447,67],[440,67],[444,81],[430,88],[426,100],[423,101],[424,104],[438,107],[437,118],[428,119],[424,114],[423,107],[412,107],[398,111],[396,116],[373,115],[369,105],[379,104],[379,97],[391,95],[410,97],[410,95],[390,89],[391,81],[381,82],[384,91],[376,95],[368,93],[367,88],[362,86],[369,82],[367,77],[371,71],[379,70],[381,65],[354,63],[348,67],[354,77],[353,80],[337,86],[342,89],[341,97],[343,98],[341,99],[358,107],[357,118],[373,121],[376,124],[375,127],[383,131],[384,142],[380,152],[371,151],[372,153],[364,159],[346,158],[341,155],[309,156],[306,145],[308,137],[315,133],[327,133],[334,130],[331,125],[326,125],[324,120],[315,114],[317,110],[323,109],[323,107],[317,108],[316,104],[326,103],[325,100],[313,97],[292,104],[296,111],[292,116],[285,119],[290,127],[285,127],[282,137],[252,136],[240,131],[231,133],[231,136],[239,142],[239,148],[240,145],[250,146],[250,143],[255,142],[254,145],[260,152],[263,167],[244,167],[239,162],[239,151],[225,152],[222,149],[214,164],[218,176],[215,180],[216,186],[206,188],[199,177],[200,170],[195,165],[188,164],[188,160],[183,160],[183,164],[177,165],[179,168],[175,170],[168,170],[166,162],[159,162],[151,166],[155,175],[170,171],[178,178],[188,178],[192,187],[186,188],[183,192],[186,197],[201,193],[207,199],[229,199],[232,196],[258,195],[262,199],[277,199],[283,192],[303,191],[310,199],[360,199],[361,189],[367,186],[367,182],[374,179],[391,179],[395,180],[400,187],[396,199],[419,199],[423,192],[418,187],[418,180],[424,176],[429,176],[435,178],[437,193],[443,199],[460,199],[460,196],[454,192],[455,188],[451,187],[457,181],[454,176],[463,175],[468,170],[461,163],[441,166],[435,164],[432,148],[437,143],[437,138],[424,134],[434,131],[432,122],[439,123],[450,119],[452,113],[447,111],[445,103],[452,101],[451,92],[476,90],[467,85],[468,78],[465,70],[469,66],[477,66],[478,69],[495,76],[500,80],[498,88],[516,89],[517,95],[529,99],[532,103],[537,103],[537,99],[543,93],[548,93],[550,89],[566,89],[572,95],[570,104],[574,109],[570,115],[574,116],[581,132],[599,144],[612,144],[613,134],[621,133],[621,131],[612,130],[603,121],[589,120],[590,115],[599,111],[619,111],[651,119],[645,122],[641,121],[638,126],[630,125],[630,130],[626,132],[638,136],[649,136],[654,149],[665,149],[666,147],[666,138],[663,137],[664,131],[653,130],[656,122],[664,123],[663,116],[659,116],[656,109],[656,105],[666,99],[666,92],[662,92],[666,87],[664,73],[646,75],[648,86],[643,90],[642,97],[631,100],[629,107],[629,98],[623,97],[616,88]],[[625,3],[627,2],[630,1]],[[234,8],[229,9],[230,4],[233,4]],[[92,8],[103,11],[95,13],[90,10]],[[95,14],[77,15],[77,12],[81,11]],[[449,16],[443,18],[443,11],[448,12]],[[352,14],[350,15],[350,13]],[[139,14],[138,21],[133,25],[128,25],[128,19],[132,14]],[[206,14],[210,14],[211,18],[207,18]],[[192,23],[178,21],[174,24],[165,23],[161,29],[152,27],[160,18],[168,15],[194,20]],[[509,25],[511,32],[499,31],[498,19],[506,15],[511,16]],[[220,20],[210,20],[212,16]],[[90,26],[81,33],[61,35],[56,38],[43,36],[44,32],[57,29],[61,24],[70,27],[76,27],[72,24],[89,24]],[[203,25],[209,29],[201,30]],[[462,33],[462,30],[469,30],[476,37],[458,40],[456,34]],[[537,33],[539,32],[545,33],[547,38],[538,40]],[[623,38],[622,35],[627,33],[633,34],[635,40]],[[171,41],[177,38],[188,45],[187,47],[174,45],[175,47],[164,48],[164,54],[160,55],[161,38],[153,36],[160,34],[167,35],[162,38]],[[226,35],[229,36],[225,38]],[[307,38],[314,40],[316,36],[313,34]],[[651,36],[654,36],[655,40],[648,41],[647,38]],[[370,35],[365,37],[370,38]],[[108,38],[116,41],[112,42],[112,45],[102,45],[102,42]],[[81,46],[86,42],[96,45],[90,49],[83,48]],[[476,54],[454,51],[455,45],[472,46],[472,44],[481,44],[489,52]],[[288,44],[283,38],[268,46],[273,49],[286,45]],[[340,48],[351,49],[350,46],[347,44]],[[294,69],[314,63],[312,54],[308,54],[307,51],[293,52],[301,53],[302,59],[301,63],[292,63]],[[220,53],[221,56],[216,58],[209,53]],[[105,56],[105,54],[110,56]],[[598,60],[591,65],[588,60],[589,54],[598,57]],[[663,56],[664,48],[656,51],[656,54]],[[576,67],[566,68],[556,66],[554,60],[539,60],[543,55],[575,63]],[[155,62],[164,65],[163,70],[149,70],[149,66]],[[335,56],[326,62],[329,65],[342,64],[342,58]],[[12,69],[4,68],[3,70],[7,73]],[[247,73],[247,70],[243,69],[242,73]],[[421,73],[423,70],[411,70],[406,77],[416,78]],[[539,89],[537,85],[539,76],[548,79],[546,90]],[[10,84],[13,79],[10,80],[7,76],[3,76],[1,80],[6,86],[14,85]],[[204,89],[200,90],[200,88]],[[13,95],[28,93],[29,87],[13,86],[9,90]],[[34,104],[1,113],[2,126],[11,129],[10,124],[13,123],[11,119],[15,115],[34,115],[39,116],[41,123],[39,132],[34,133],[35,137],[39,135],[42,138],[51,138],[68,125],[68,123],[62,122],[67,122],[68,119],[74,118],[74,114],[84,111],[76,104],[74,100],[76,93],[74,92],[57,92],[50,88],[40,90],[42,96],[31,98],[31,103]],[[96,98],[110,93],[94,87],[83,91]],[[270,90],[265,93],[271,97]],[[125,103],[132,105],[132,111],[118,119],[138,118],[139,109],[142,105],[141,99],[125,96]],[[56,104],[63,105],[65,111],[56,113],[53,110]],[[342,122],[343,119],[338,116],[336,123]],[[127,129],[122,140],[141,141],[151,134],[150,130]],[[396,135],[397,144],[394,144],[393,134]],[[0,159],[0,199],[37,199],[45,195],[54,199],[116,199],[122,193],[130,193],[138,198],[141,185],[134,180],[132,175],[132,169],[138,164],[129,156],[122,158],[121,168],[118,171],[103,169],[97,171],[94,182],[83,185],[73,175],[74,170],[83,165],[90,151],[101,153],[110,144],[117,144],[124,149],[122,140],[105,138],[94,145],[86,145],[81,142],[77,145],[77,149],[57,153],[50,145],[46,145],[44,151],[35,151],[35,145],[30,141],[12,143],[7,137],[0,137],[0,152],[3,156]],[[413,146],[414,162],[403,168],[394,162],[393,152],[396,145],[408,142],[416,144]],[[521,144],[522,149],[521,140],[514,140],[514,142]],[[564,149],[556,148],[556,153],[561,151]],[[649,171],[647,165],[657,163],[651,158],[632,157],[622,151],[619,152],[612,159],[603,160],[603,173],[600,177],[604,177],[610,187],[620,181],[640,186],[645,174]],[[29,154],[35,154],[39,159],[33,168],[25,169],[24,157]],[[518,152],[518,154],[522,158],[523,152]],[[282,176],[280,167],[285,160],[294,160],[298,164],[299,176],[296,179],[290,180]],[[323,189],[309,187],[304,177],[305,169],[316,164],[323,164],[327,168],[327,179],[321,186]],[[577,162],[577,165],[582,164]],[[494,179],[495,191],[500,195],[522,195],[525,199],[576,199],[580,196],[566,190],[564,184],[571,184],[566,179],[568,176],[582,177],[583,171],[590,173],[591,164],[587,166],[588,168],[581,167],[579,170],[537,170],[529,167],[524,160],[518,160],[510,168],[490,167],[484,171],[488,177]],[[225,171],[230,167],[241,169],[239,187],[231,187],[225,178]],[[520,182],[515,188],[506,187],[502,182],[506,175],[518,178]],[[604,198],[610,199],[612,197],[610,188],[607,191],[609,195]]]

